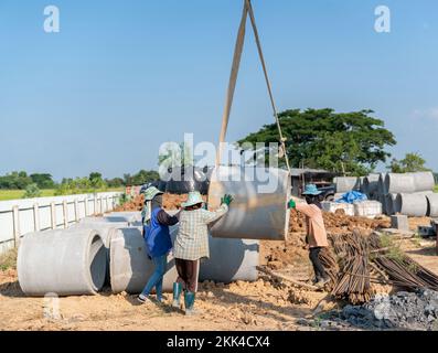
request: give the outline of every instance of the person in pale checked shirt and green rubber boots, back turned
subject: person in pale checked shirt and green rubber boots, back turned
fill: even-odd
[[[203,199],[199,192],[191,192],[188,201],[182,204],[180,229],[174,242],[178,279],[173,284],[173,308],[180,308],[180,297],[184,292],[185,314],[195,314],[194,301],[197,291],[200,260],[210,257],[209,224],[220,220],[228,212],[233,202],[231,195],[225,195],[216,212],[203,208]]]

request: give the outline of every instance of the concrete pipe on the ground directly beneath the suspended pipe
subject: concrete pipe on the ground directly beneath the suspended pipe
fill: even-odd
[[[210,259],[201,264],[200,281],[229,284],[258,279],[259,242],[210,237]]]

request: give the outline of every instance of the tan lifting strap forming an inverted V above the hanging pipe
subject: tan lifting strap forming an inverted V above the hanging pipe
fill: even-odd
[[[285,154],[287,169],[290,172],[290,164],[289,164],[289,159],[288,159],[287,150],[286,150],[286,139],[282,135],[280,119],[278,117],[278,110],[277,110],[277,106],[276,106],[276,103],[274,99],[274,94],[273,94],[273,88],[271,88],[273,86],[270,84],[268,69],[266,67],[265,56],[263,53],[261,42],[260,42],[260,38],[258,35],[256,19],[254,15],[254,10],[253,10],[250,0],[244,0],[244,11],[242,14],[241,25],[238,28],[236,46],[234,49],[233,65],[232,65],[232,72],[231,72],[231,76],[229,76],[228,89],[226,93],[225,109],[224,109],[224,114],[222,117],[222,128],[221,128],[221,136],[220,136],[220,147],[217,149],[217,156],[216,156],[216,165],[218,165],[221,163],[222,147],[223,147],[223,143],[225,142],[226,131],[228,129],[229,114],[231,114],[232,106],[233,106],[234,92],[236,89],[237,76],[238,76],[238,71],[239,71],[241,61],[242,61],[242,53],[244,50],[245,35],[246,35],[246,21],[248,18],[248,13],[249,13],[249,19],[250,19],[250,22],[253,25],[254,35],[256,39],[258,55],[260,57],[263,71],[265,74],[266,85],[268,87],[269,99],[273,105],[274,117],[276,119],[278,133],[280,136],[282,153]]]

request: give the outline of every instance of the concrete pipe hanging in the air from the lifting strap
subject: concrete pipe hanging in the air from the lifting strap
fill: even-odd
[[[288,235],[291,178],[287,171],[265,168],[220,167],[214,169],[209,203],[221,204],[232,194],[229,212],[211,227],[218,238],[285,240]]]

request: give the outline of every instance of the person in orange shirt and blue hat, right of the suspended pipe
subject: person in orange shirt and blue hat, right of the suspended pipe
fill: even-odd
[[[289,208],[296,208],[298,212],[306,215],[307,221],[307,243],[310,249],[310,260],[313,265],[316,278],[313,284],[318,287],[323,287],[330,281],[330,277],[327,275],[323,265],[319,258],[321,249],[329,247],[327,238],[327,231],[324,220],[322,217],[321,203],[319,195],[322,192],[318,190],[317,185],[306,185],[306,191],[302,195],[306,196],[307,203],[296,203],[295,200],[290,200]]]

